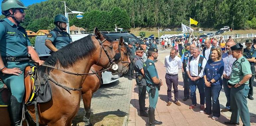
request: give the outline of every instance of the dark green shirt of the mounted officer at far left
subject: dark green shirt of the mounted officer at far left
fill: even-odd
[[[27,57],[31,46],[26,30],[5,18],[0,21],[0,53],[2,57]]]

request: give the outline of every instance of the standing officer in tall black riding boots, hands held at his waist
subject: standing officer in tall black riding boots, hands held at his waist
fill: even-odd
[[[147,92],[149,94],[149,126],[161,125],[162,122],[155,119],[155,109],[157,105],[158,95],[160,91],[160,86],[163,85],[161,79],[158,78],[158,73],[156,66],[154,64],[154,59],[157,59],[158,50],[154,47],[148,49],[148,59],[144,63],[143,70],[145,75],[145,80],[147,83]]]

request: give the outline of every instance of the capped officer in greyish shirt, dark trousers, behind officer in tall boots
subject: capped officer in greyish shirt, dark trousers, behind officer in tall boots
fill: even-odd
[[[146,99],[146,80],[143,70],[144,61],[142,59],[143,56],[143,48],[137,47],[135,49],[136,56],[134,57],[134,71],[136,77],[136,83],[139,89],[139,106],[140,106],[140,116],[148,117],[148,113],[145,112],[145,99]],[[146,108],[147,109],[147,108]]]

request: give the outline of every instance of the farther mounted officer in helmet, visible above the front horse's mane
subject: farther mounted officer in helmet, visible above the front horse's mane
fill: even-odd
[[[65,32],[67,27],[67,19],[65,16],[57,15],[54,18],[54,24],[56,27],[47,35],[45,45],[55,52],[72,42],[72,39],[70,35]]]

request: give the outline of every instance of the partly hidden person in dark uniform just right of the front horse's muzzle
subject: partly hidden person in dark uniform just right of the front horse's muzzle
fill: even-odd
[[[128,46],[129,46],[129,49],[131,50],[131,55],[129,56],[131,63],[129,64],[129,69],[128,69],[128,79],[132,80],[134,78],[133,77],[133,73],[134,73],[133,59],[135,57],[135,47],[133,47],[131,42],[128,43]]]

